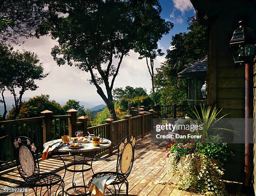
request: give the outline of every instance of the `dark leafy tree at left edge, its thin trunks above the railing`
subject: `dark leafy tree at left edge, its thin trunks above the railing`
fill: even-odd
[[[13,48],[0,44],[0,91],[4,104],[3,120],[7,113],[4,92],[8,90],[14,98],[13,119],[19,114],[23,94],[38,88],[35,81],[45,78],[44,68],[38,56],[30,51],[13,51]]]

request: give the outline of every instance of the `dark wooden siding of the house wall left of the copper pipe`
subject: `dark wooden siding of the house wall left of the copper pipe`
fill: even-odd
[[[236,24],[229,17],[219,17],[208,27],[208,95],[207,104],[223,108],[221,114],[228,118],[244,118],[245,82],[244,66],[235,66],[229,49],[229,41]],[[225,164],[224,178],[243,181],[244,144],[229,144],[234,156]]]

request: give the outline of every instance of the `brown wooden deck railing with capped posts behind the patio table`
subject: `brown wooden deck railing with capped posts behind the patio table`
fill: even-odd
[[[15,166],[13,141],[18,136],[27,136],[34,140],[41,158],[44,143],[60,139],[62,135],[75,137],[75,132],[82,130],[85,135],[90,132],[112,141],[109,148],[97,152],[97,155],[106,153],[111,155],[115,153],[118,144],[126,135],[132,134],[139,139],[153,129],[152,112],[139,111],[136,117],[125,115],[125,119],[118,121],[106,119],[105,124],[94,127],[87,127],[88,117],[77,118],[77,110],[74,109],[68,110],[67,115],[54,116],[49,110],[41,113],[43,115],[41,117],[0,121],[0,137],[3,137],[0,139],[0,171]],[[93,153],[87,153],[87,156],[92,157]]]

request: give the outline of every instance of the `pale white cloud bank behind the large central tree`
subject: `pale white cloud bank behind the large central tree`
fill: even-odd
[[[45,79],[36,81],[39,86],[36,91],[26,91],[23,97],[49,94],[50,99],[55,99],[56,101],[77,99],[94,105],[102,104],[103,101],[97,94],[96,87],[87,81],[90,78],[89,73],[81,71],[74,66],[57,66],[51,56],[51,48],[56,44],[58,42],[52,40],[50,36],[43,36],[39,39],[29,38],[21,46],[14,46],[15,49],[20,51],[24,48],[37,53],[43,63],[44,72],[51,72]],[[161,47],[160,43],[159,47]],[[164,51],[164,48],[162,49]],[[146,59],[138,60],[138,56],[138,53],[130,51],[130,56],[123,58],[119,74],[115,79],[114,88],[129,85],[143,87],[147,89],[148,93],[150,92],[151,80],[146,66]],[[154,61],[155,67],[159,67],[164,60],[164,56],[157,57]],[[116,63],[117,61],[113,62],[113,64]],[[102,86],[102,89],[105,89],[105,87]],[[6,92],[5,96],[11,96],[11,94]]]

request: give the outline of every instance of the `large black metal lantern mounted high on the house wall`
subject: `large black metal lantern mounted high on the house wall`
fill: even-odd
[[[244,27],[243,20],[239,21],[239,25],[229,44],[232,56],[235,64],[251,63],[256,54],[256,38],[251,28]]]

